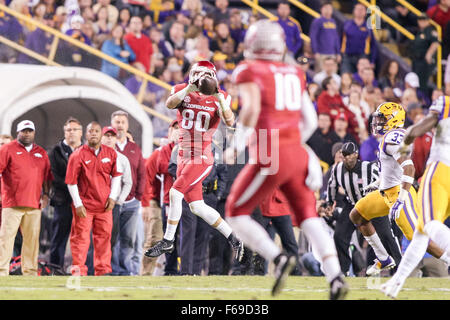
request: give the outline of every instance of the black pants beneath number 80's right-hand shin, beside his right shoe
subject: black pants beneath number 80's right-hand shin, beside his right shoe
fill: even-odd
[[[217,211],[225,218],[225,203],[222,199],[217,203]],[[232,248],[227,239],[217,230],[212,230],[209,238],[209,275],[228,275],[231,269]]]

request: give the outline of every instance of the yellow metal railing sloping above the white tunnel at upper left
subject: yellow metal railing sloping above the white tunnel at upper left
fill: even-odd
[[[142,84],[141,84],[141,87],[139,89],[139,93],[138,93],[136,99],[141,104],[142,108],[147,113],[149,113],[149,114],[151,114],[151,115],[153,115],[155,117],[158,117],[158,118],[160,118],[160,119],[162,119],[162,120],[164,120],[164,121],[166,121],[168,123],[170,123],[173,120],[173,119],[171,119],[171,118],[169,118],[169,117],[167,117],[167,116],[165,116],[165,115],[163,115],[163,114],[153,110],[152,108],[150,108],[150,107],[148,107],[148,106],[146,106],[146,105],[144,105],[142,103],[148,82],[152,82],[152,83],[156,84],[157,86],[162,87],[163,89],[168,90],[168,91],[171,89],[171,86],[169,84],[167,84],[164,81],[161,81],[161,80],[159,80],[159,79],[149,75],[148,73],[143,72],[143,71],[141,71],[141,70],[139,70],[139,69],[137,69],[137,68],[135,68],[135,67],[133,67],[133,66],[131,66],[129,64],[123,63],[122,61],[119,61],[119,60],[117,60],[117,59],[115,59],[115,58],[113,58],[113,57],[103,53],[102,51],[100,51],[100,50],[98,50],[96,48],[93,48],[93,47],[91,47],[91,46],[89,46],[89,45],[87,45],[87,44],[85,44],[85,43],[83,43],[83,42],[81,42],[81,41],[79,41],[77,39],[74,39],[74,38],[72,38],[72,37],[70,37],[70,36],[68,36],[66,34],[63,34],[62,32],[60,32],[60,31],[58,31],[56,29],[50,28],[49,26],[47,26],[47,25],[45,25],[45,24],[43,24],[43,23],[41,23],[41,22],[31,18],[31,17],[28,17],[28,16],[23,15],[23,14],[15,11],[15,10],[12,10],[11,8],[9,8],[9,7],[7,7],[7,6],[3,5],[3,4],[0,4],[0,12],[4,12],[6,14],[9,14],[9,15],[15,17],[18,21],[23,21],[23,22],[28,23],[29,25],[33,25],[36,28],[39,28],[39,29],[41,29],[41,30],[43,30],[45,32],[48,32],[48,33],[52,34],[53,37],[54,37],[53,38],[53,42],[52,42],[51,47],[50,47],[50,52],[49,52],[48,57],[45,57],[45,56],[40,55],[40,54],[38,54],[36,52],[33,52],[32,50],[30,50],[30,49],[20,45],[19,43],[11,41],[8,38],[3,37],[3,36],[0,36],[0,42],[1,43],[7,45],[8,47],[11,47],[14,50],[22,52],[22,53],[24,53],[24,54],[26,54],[26,55],[28,55],[28,56],[38,60],[39,62],[41,62],[41,63],[43,63],[45,65],[63,66],[62,64],[60,64],[60,63],[55,61],[57,50],[62,50],[62,48],[59,47],[59,44],[60,44],[60,42],[62,40],[62,41],[66,42],[66,43],[68,43],[68,44],[70,44],[70,45],[72,45],[72,46],[74,46],[74,47],[76,47],[78,49],[83,50],[84,52],[89,53],[92,56],[95,56],[95,57],[97,57],[99,59],[102,59],[102,60],[106,60],[106,61],[108,61],[108,62],[110,62],[112,64],[117,65],[121,69],[124,69],[127,72],[129,72],[129,73],[131,73],[131,74],[133,74],[135,76],[141,77],[143,80],[142,80]]]

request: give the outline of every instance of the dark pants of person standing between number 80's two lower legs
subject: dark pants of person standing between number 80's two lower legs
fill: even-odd
[[[217,197],[214,193],[204,193],[206,205],[216,208]],[[183,201],[183,214],[180,222],[180,273],[200,275],[206,267],[208,239],[212,227],[196,216]],[[223,237],[223,235],[222,235]]]

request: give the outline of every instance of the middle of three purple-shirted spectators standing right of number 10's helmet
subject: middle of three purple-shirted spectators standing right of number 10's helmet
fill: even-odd
[[[336,21],[332,18],[333,6],[331,2],[324,1],[320,5],[321,16],[313,20],[309,37],[311,49],[316,62],[316,71],[322,70],[324,58],[333,57],[339,63],[341,61],[341,41],[336,28]],[[337,70],[336,70],[337,71]]]

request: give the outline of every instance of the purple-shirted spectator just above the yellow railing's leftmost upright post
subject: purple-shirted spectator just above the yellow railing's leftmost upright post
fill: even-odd
[[[43,23],[52,28],[54,26],[53,17],[51,15],[45,15]],[[25,40],[25,47],[46,57],[50,52],[52,41],[53,35],[51,33],[36,28],[36,30],[28,34]],[[19,63],[41,64],[41,62],[25,53],[20,53],[17,61]]]

